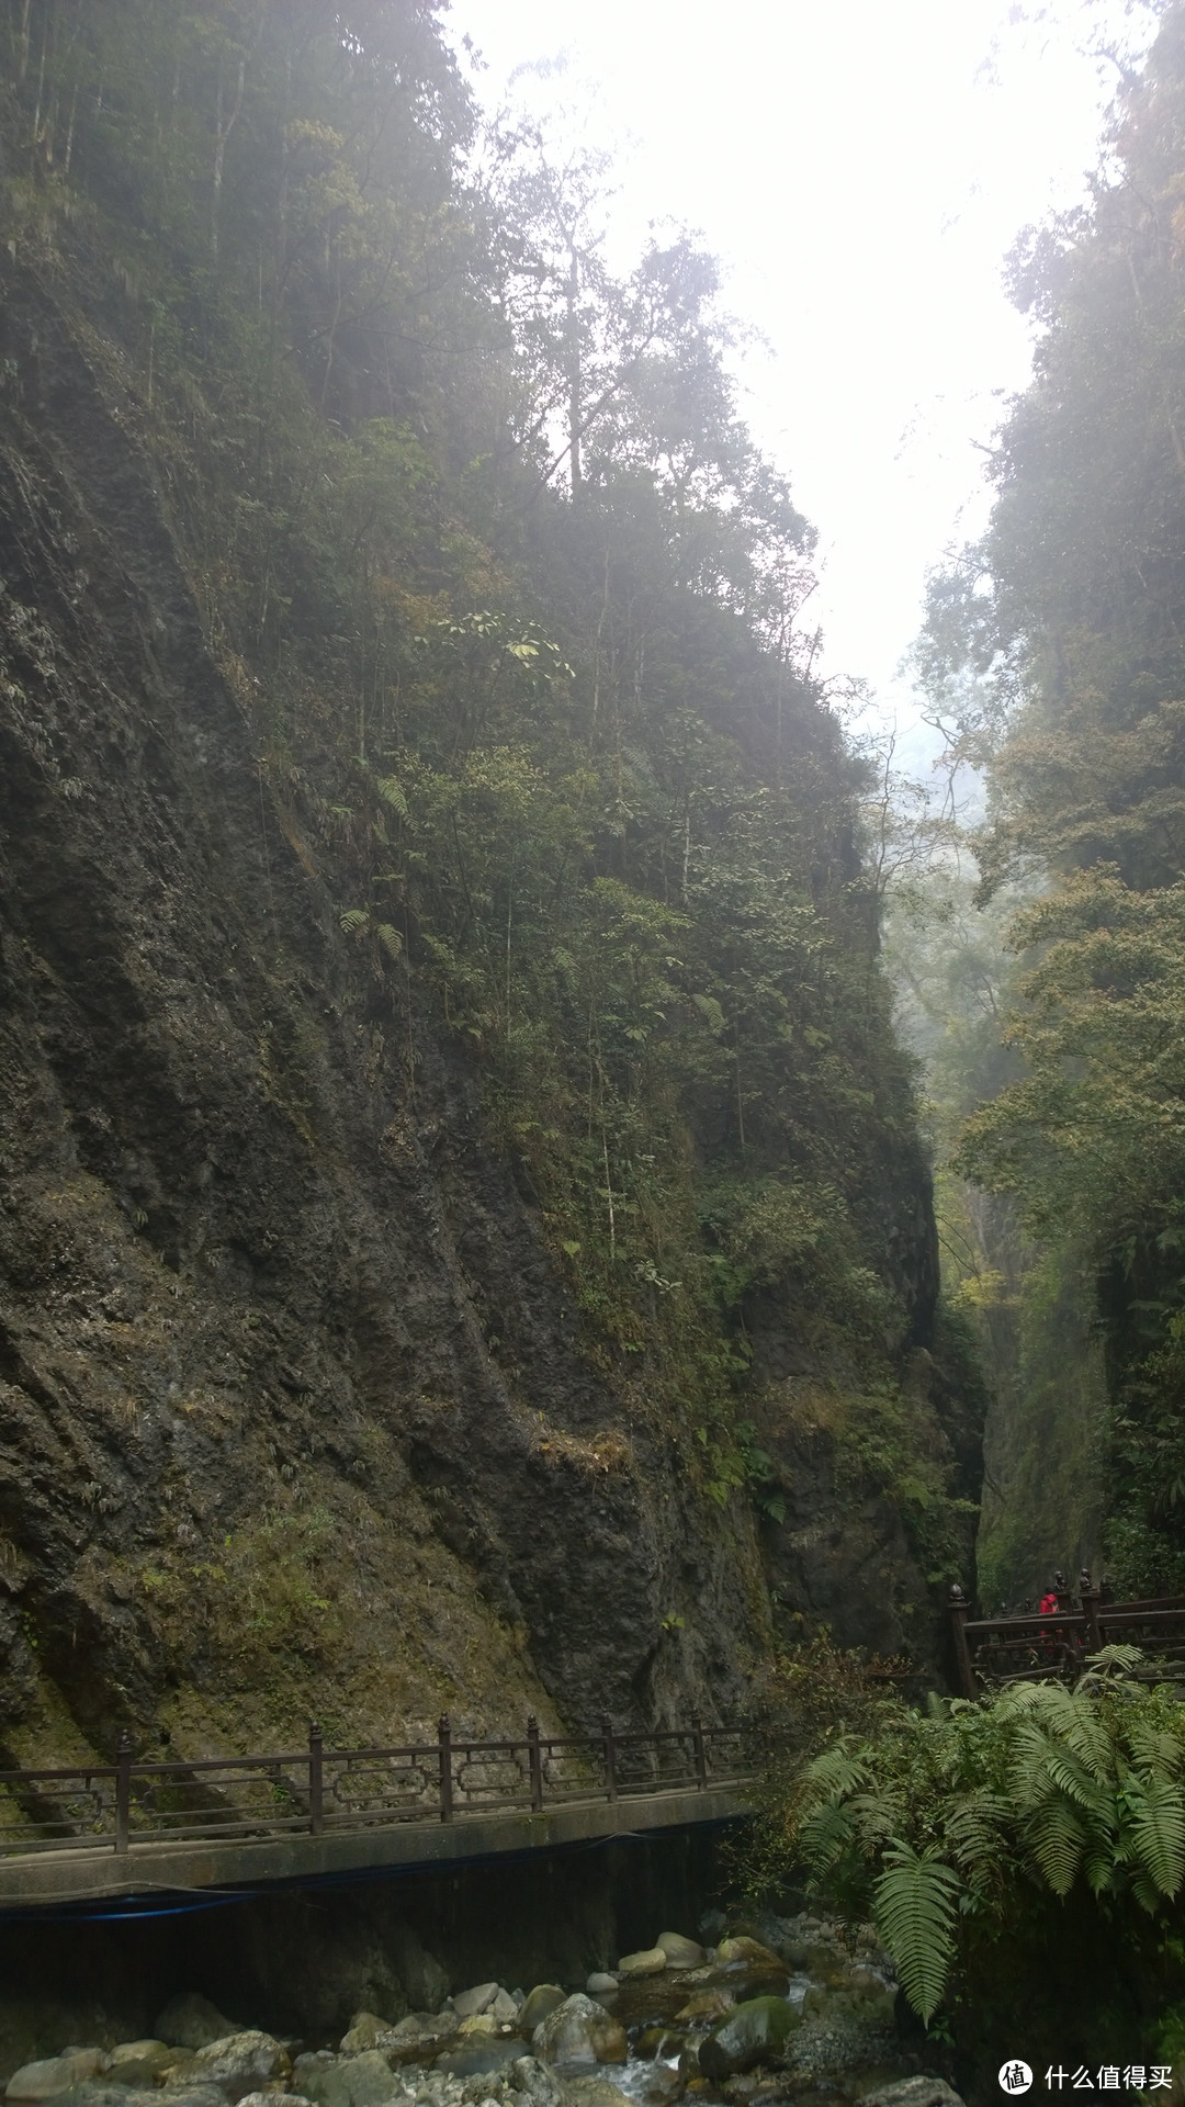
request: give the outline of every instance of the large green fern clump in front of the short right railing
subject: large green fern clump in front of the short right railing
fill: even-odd
[[[1164,1911],[1185,1884],[1185,1707],[1107,1648],[1075,1690],[1012,1683],[881,1709],[770,1783],[761,1858],[875,1915],[928,2025],[959,1949],[1023,1917],[1023,1890]]]

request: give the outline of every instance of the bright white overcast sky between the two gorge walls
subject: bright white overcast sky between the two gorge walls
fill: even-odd
[[[1018,19],[1042,15],[1046,19]],[[987,516],[976,440],[1025,386],[1029,327],[999,274],[1018,230],[1084,196],[1115,72],[1086,53],[1124,0],[451,0],[483,103],[567,51],[538,105],[597,86],[614,150],[614,253],[652,219],[704,232],[725,303],[770,356],[744,411],[818,527],[810,607],[824,670],[869,678],[902,725],[894,668],[926,569]],[[588,105],[588,97],[584,97]]]

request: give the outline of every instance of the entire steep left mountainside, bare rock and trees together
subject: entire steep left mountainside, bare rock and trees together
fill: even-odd
[[[780,1618],[934,1656],[966,1559],[860,780],[706,265],[647,263],[557,487],[430,15],[299,15],[13,25],[15,1759],[719,1715]]]

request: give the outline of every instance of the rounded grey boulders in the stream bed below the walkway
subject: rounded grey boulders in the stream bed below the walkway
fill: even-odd
[[[961,2107],[898,2040],[896,1978],[871,1926],[803,1915],[761,1932],[715,1947],[664,1932],[590,1976],[595,1993],[491,1978],[436,2012],[365,2008],[333,2044],[238,2027],[190,2048],[169,2031],[202,2033],[215,2008],[177,1997],[158,2037],[25,2063],[6,2107]]]

